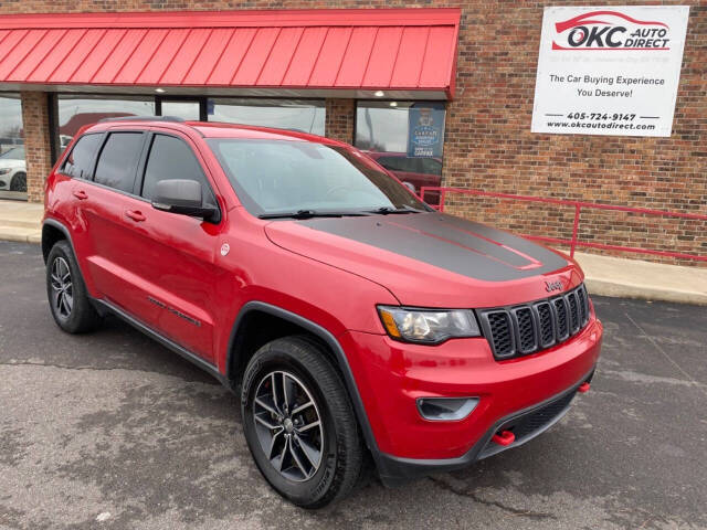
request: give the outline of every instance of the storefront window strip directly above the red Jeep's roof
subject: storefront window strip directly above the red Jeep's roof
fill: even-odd
[[[213,98],[209,121],[260,125],[324,136],[324,100]]]

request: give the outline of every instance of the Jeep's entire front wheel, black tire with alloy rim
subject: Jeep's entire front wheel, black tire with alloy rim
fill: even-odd
[[[272,379],[273,373],[275,379]],[[276,418],[275,411],[265,410],[260,404],[267,396],[268,378],[271,389],[276,389],[279,384],[276,383],[277,378],[281,378],[283,385],[287,384],[288,378],[291,389],[294,389],[291,394],[295,394],[295,398],[289,396],[289,407],[283,406],[283,421]],[[297,384],[302,384],[305,392],[302,392]],[[256,403],[257,392],[260,393]],[[287,390],[284,393],[287,394]],[[315,406],[310,405],[303,413],[296,413],[307,399],[314,401]],[[268,403],[272,405],[277,401]],[[286,403],[285,399],[284,405]],[[276,409],[281,410],[277,406]],[[286,337],[273,340],[257,350],[245,368],[241,389],[241,413],[245,439],[257,468],[270,485],[291,502],[307,509],[323,508],[346,497],[357,485],[365,454],[358,423],[341,378],[327,359],[323,347],[316,341],[306,337]],[[261,422],[256,422],[256,414],[277,426],[272,431],[263,426]],[[319,417],[320,426],[316,428],[320,431],[317,433],[310,428],[305,433],[308,425],[316,423],[314,414]],[[288,418],[289,438],[286,428]],[[298,428],[302,428],[302,432]],[[279,434],[289,439],[292,448],[286,448],[287,442],[285,439],[283,444],[282,437],[279,443],[285,447],[282,453],[275,443],[267,443],[266,438],[265,443],[263,442],[263,436],[267,436],[267,433],[272,436],[274,432],[277,433],[275,436]],[[310,436],[307,442],[299,437],[305,435]],[[271,455],[276,455],[272,460],[271,455],[266,454],[265,445],[268,445]],[[305,445],[308,452],[304,451]],[[313,448],[317,447],[320,449],[320,457],[318,466],[315,467],[313,460],[316,463],[317,453]],[[299,458],[296,457],[297,454]],[[314,458],[309,455],[314,455]],[[306,470],[297,460],[302,460]],[[287,469],[277,469],[277,463],[281,468]],[[306,471],[310,475],[307,476]]]

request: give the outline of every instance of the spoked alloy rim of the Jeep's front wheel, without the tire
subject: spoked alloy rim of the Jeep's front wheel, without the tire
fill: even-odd
[[[267,373],[253,403],[255,431],[263,453],[285,478],[312,478],[324,454],[319,409],[305,384],[285,371]]]

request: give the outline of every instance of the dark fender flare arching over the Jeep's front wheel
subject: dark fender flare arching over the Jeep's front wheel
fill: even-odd
[[[235,318],[235,322],[233,324],[233,328],[231,329],[231,336],[229,338],[229,349],[226,357],[226,365],[225,365],[225,374],[226,378],[231,373],[232,363],[235,359],[233,352],[233,346],[235,343],[235,337],[238,336],[239,328],[243,321],[243,317],[251,311],[262,311],[273,315],[274,317],[282,318],[283,320],[288,320],[297,326],[306,329],[312,332],[319,339],[321,339],[334,352],[334,356],[337,361],[337,365],[344,377],[344,384],[346,385],[346,390],[351,399],[351,404],[354,405],[354,413],[358,420],[358,423],[363,433],[363,439],[366,441],[366,445],[368,446],[371,455],[373,456],[373,460],[376,464],[380,462],[381,453],[378,448],[378,443],[376,442],[376,436],[373,435],[373,431],[371,428],[371,424],[368,421],[368,414],[366,413],[366,407],[363,406],[363,401],[361,400],[361,395],[358,392],[358,386],[356,385],[356,380],[354,378],[354,372],[351,372],[351,367],[349,365],[348,358],[344,352],[344,348],[336,339],[334,335],[331,335],[326,328],[323,328],[318,324],[313,322],[299,315],[283,309],[277,306],[273,306],[272,304],[266,304],[264,301],[252,300],[244,304],[239,311],[238,317]]]

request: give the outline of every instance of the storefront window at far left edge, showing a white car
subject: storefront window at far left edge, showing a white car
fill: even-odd
[[[27,200],[27,166],[19,94],[0,94],[0,199]]]

